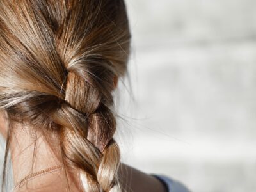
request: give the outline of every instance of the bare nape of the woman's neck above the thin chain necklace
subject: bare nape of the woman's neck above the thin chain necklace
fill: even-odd
[[[15,127],[10,140],[14,183],[31,173],[61,164],[57,146],[51,143],[50,147],[42,135],[33,136],[27,127]]]

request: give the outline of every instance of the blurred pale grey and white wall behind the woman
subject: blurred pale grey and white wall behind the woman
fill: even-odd
[[[120,82],[122,161],[191,191],[256,191],[256,1],[126,4],[134,99]]]

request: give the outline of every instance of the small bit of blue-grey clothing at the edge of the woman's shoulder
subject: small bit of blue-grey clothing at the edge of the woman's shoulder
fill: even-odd
[[[152,174],[152,176],[159,179],[161,182],[163,182],[164,186],[166,186],[166,190],[168,192],[190,192],[186,186],[178,182],[177,180],[171,179],[170,177],[166,175],[156,175]]]

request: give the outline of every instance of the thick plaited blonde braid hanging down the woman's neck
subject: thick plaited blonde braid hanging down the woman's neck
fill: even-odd
[[[101,76],[111,77],[107,70]],[[110,191],[117,183],[120,164],[119,148],[113,139],[116,121],[108,107],[113,102],[111,93],[103,99],[96,86],[74,72],[68,72],[66,81],[65,102],[53,115],[53,121],[63,127],[61,147],[65,163],[82,171],[88,191]],[[85,90],[82,97],[81,88]]]

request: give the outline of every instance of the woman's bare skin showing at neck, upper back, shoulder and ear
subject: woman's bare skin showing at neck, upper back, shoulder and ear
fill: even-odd
[[[117,78],[113,79],[115,87],[117,86]],[[33,136],[28,132],[28,127],[15,127],[14,137],[10,141],[10,152],[12,157],[13,166],[13,179],[14,183],[23,179],[31,173],[31,164],[34,162],[33,173],[39,170],[44,170],[51,166],[61,164],[60,150],[58,150],[57,143],[51,143],[51,146],[40,135],[36,140],[36,156],[33,159],[34,142]],[[6,138],[7,126],[6,120],[0,114],[0,132]],[[136,170],[131,166],[121,163],[120,170],[120,184],[125,190],[133,192],[164,192],[163,184],[147,173]],[[79,173],[77,170],[67,169],[67,177],[63,169],[56,170],[55,172],[48,172],[39,177],[29,180],[26,185],[21,188],[15,189],[15,192],[20,191],[68,191],[68,184],[70,191],[83,191],[83,187],[79,184]]]

